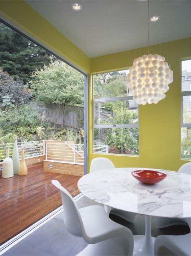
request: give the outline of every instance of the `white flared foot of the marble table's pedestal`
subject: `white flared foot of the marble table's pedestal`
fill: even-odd
[[[135,235],[133,237],[134,237],[134,249],[133,249],[134,256],[138,256],[138,255],[153,256],[154,255],[155,238],[151,237],[152,243],[147,244],[145,235]]]

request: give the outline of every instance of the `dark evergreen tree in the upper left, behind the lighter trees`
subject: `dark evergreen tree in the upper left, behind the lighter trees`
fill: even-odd
[[[51,62],[51,54],[0,22],[0,67],[26,84],[31,74]]]

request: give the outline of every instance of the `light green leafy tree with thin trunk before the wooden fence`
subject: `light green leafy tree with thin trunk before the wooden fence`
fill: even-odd
[[[65,106],[83,105],[83,75],[64,62],[56,61],[37,70],[33,76],[36,77],[36,80],[31,81],[33,95],[39,102],[56,104],[59,107],[63,128]]]

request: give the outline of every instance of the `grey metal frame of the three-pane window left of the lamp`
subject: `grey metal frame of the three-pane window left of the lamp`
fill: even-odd
[[[107,72],[104,72],[104,73],[107,73]],[[94,128],[138,128],[139,129],[139,105],[138,104],[137,104],[137,114],[138,114],[137,115],[137,119],[138,119],[137,124],[95,124],[94,110],[95,110],[95,104],[96,103],[129,101],[129,100],[133,100],[133,96],[94,99],[94,75],[98,75],[98,74],[93,74],[92,75],[92,88],[93,88],[93,90],[92,90],[92,98],[93,98],[93,104],[92,104],[92,142],[93,142],[92,143],[92,153],[93,154],[107,154],[107,155],[139,157],[139,154],[138,155],[133,155],[133,154],[117,154],[117,153],[94,152]]]

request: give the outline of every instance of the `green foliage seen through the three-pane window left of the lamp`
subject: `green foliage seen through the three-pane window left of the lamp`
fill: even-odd
[[[127,95],[125,73],[113,72],[108,77],[94,76],[94,90],[96,97],[117,97]],[[125,101],[98,103],[99,111],[104,111],[112,124],[136,124],[138,112],[129,110]],[[108,121],[95,120],[96,124],[109,124]],[[109,153],[139,154],[138,128],[95,128],[94,141],[99,140],[102,145],[109,145]]]

